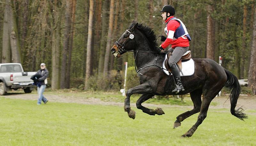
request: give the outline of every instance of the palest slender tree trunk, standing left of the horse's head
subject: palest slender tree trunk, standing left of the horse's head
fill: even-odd
[[[87,89],[88,79],[91,76],[91,52],[92,52],[92,22],[93,22],[93,0],[90,0],[90,10],[89,10],[89,26],[88,26],[88,36],[87,36],[87,53],[86,53],[86,73],[84,89]]]

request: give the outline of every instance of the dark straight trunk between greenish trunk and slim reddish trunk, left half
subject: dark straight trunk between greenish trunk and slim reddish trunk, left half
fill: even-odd
[[[69,49],[69,38],[70,38],[70,18],[71,18],[71,0],[66,0],[66,12],[65,12],[65,32],[64,32],[64,43],[62,51],[61,61],[61,74],[60,74],[60,88],[64,89],[67,82],[67,54]]]

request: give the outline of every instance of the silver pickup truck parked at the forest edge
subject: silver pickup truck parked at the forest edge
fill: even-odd
[[[25,93],[31,93],[36,87],[31,76],[36,72],[24,72],[20,63],[0,64],[0,95],[5,95],[8,91],[22,88]]]

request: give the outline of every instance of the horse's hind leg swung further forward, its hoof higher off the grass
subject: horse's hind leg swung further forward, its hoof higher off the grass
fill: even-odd
[[[173,128],[179,127],[181,125],[180,122],[184,121],[189,116],[200,112],[200,107],[202,104],[201,95],[202,95],[202,89],[198,89],[190,93],[190,98],[193,101],[194,108],[190,111],[187,111],[185,113],[178,115],[176,117],[177,120],[174,122]]]

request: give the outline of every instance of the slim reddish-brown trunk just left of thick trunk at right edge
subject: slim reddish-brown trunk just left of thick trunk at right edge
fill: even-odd
[[[245,61],[245,49],[246,49],[246,17],[247,17],[247,6],[244,5],[244,14],[243,14],[243,41],[242,41],[242,56],[240,59],[240,66],[241,66],[241,70],[240,70],[240,79],[244,79],[244,61]]]

